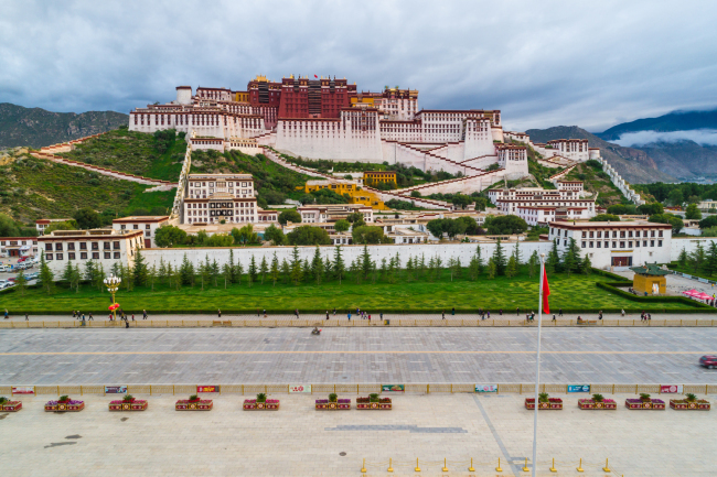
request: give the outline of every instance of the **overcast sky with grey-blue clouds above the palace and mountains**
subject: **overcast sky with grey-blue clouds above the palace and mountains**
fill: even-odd
[[[717,106],[715,1],[32,1],[0,13],[0,102],[128,112],[178,85],[335,75],[602,131]]]

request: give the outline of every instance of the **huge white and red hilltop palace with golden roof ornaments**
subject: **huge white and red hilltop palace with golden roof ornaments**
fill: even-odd
[[[355,84],[335,77],[291,75],[279,83],[257,76],[244,91],[179,86],[176,100],[130,112],[130,130],[170,128],[184,131],[193,150],[257,153],[266,145],[304,159],[403,163],[465,177],[497,164],[500,175],[491,178],[499,180],[520,178],[528,170],[526,147],[518,142],[529,139],[504,132],[499,110],[419,109],[415,89],[358,93]],[[532,145],[548,163],[600,156],[587,140]]]

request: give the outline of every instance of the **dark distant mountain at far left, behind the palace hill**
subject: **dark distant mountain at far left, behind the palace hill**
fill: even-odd
[[[41,108],[0,102],[0,149],[69,141],[117,129],[129,116],[115,111],[52,112]]]

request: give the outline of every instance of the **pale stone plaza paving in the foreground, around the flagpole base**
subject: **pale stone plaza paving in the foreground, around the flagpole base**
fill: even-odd
[[[616,397],[617,411],[581,411],[572,395],[563,411],[542,411],[538,475],[715,474],[714,410],[629,411],[625,397]],[[280,410],[265,412],[242,411],[242,397],[215,398],[208,412],[176,412],[172,395],[138,398],[149,400],[147,411],[109,412],[110,397],[83,397],[84,411],[64,414],[44,412],[47,398],[22,398],[22,411],[0,413],[3,475],[521,476],[532,456],[533,412],[517,395],[398,394],[392,411],[335,412],[315,411],[309,395],[272,397]]]

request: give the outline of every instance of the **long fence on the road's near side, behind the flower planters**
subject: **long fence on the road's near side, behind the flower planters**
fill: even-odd
[[[481,383],[480,386],[484,386]],[[127,392],[130,394],[194,394],[197,392],[197,387],[205,387],[205,384],[127,384]],[[382,393],[382,384],[379,383],[319,383],[319,384],[301,384],[304,391],[295,392],[292,388],[297,384],[212,384],[218,388],[218,394],[257,394],[264,392],[267,394],[328,394],[331,392],[341,394],[371,394]],[[395,386],[395,383],[394,383]],[[403,393],[413,394],[436,394],[436,393],[475,393],[474,383],[406,383]],[[496,383],[491,384],[496,387],[496,394],[528,394],[535,393],[534,383]],[[539,392],[548,392],[552,394],[587,394],[586,392],[568,392],[568,386],[571,384],[556,384],[545,383],[538,387]],[[591,393],[603,394],[640,394],[643,392],[650,394],[661,394],[662,386],[667,384],[582,384],[590,386]],[[670,386],[675,386],[671,383]],[[717,394],[717,384],[681,384],[683,393],[694,394]],[[107,386],[116,388],[117,383]],[[33,392],[25,392],[29,388],[33,388]],[[38,386],[0,386],[0,395],[3,394],[103,394],[105,395],[105,384],[38,384]],[[396,394],[396,391],[383,392],[386,394]],[[399,392],[400,393],[400,392]],[[482,393],[482,392],[481,392]],[[676,394],[676,393],[670,393]]]

